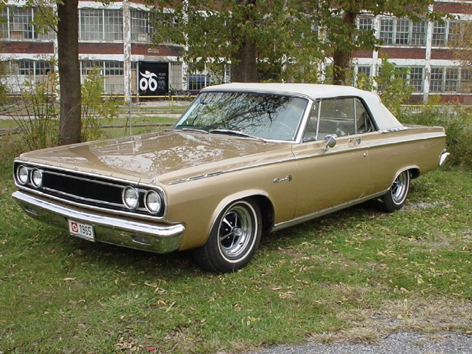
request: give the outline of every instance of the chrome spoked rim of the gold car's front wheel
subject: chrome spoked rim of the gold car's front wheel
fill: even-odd
[[[234,205],[225,213],[218,229],[218,243],[223,256],[238,258],[256,232],[249,205]]]

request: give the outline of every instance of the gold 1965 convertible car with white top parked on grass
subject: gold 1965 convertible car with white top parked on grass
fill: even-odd
[[[12,196],[88,241],[193,249],[202,268],[232,272],[263,233],[368,200],[402,208],[410,178],[449,155],[445,137],[357,88],[223,84],[172,129],[23,153]]]

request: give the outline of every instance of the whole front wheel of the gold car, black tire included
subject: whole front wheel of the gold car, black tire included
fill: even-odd
[[[251,261],[261,233],[261,208],[252,199],[234,201],[214,221],[207,243],[193,250],[193,259],[211,272],[234,272]]]

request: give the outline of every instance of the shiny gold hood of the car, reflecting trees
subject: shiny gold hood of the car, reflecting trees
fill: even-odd
[[[170,183],[291,155],[290,143],[181,131],[86,142],[23,153],[20,160],[102,176]]]

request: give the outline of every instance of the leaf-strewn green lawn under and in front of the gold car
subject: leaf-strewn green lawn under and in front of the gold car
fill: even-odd
[[[19,211],[0,167],[0,352],[240,353],[396,330],[472,329],[472,173],[413,180],[407,205],[361,205],[265,236],[252,263],[94,244]]]

